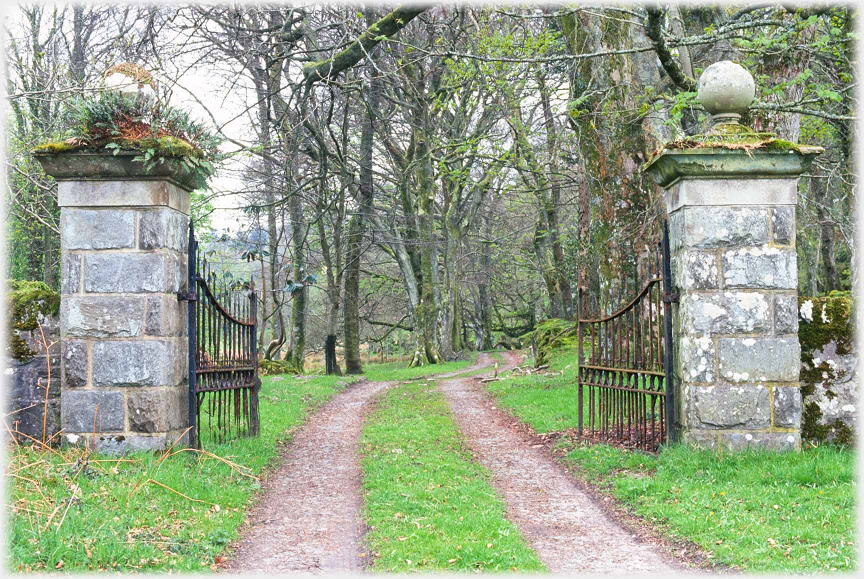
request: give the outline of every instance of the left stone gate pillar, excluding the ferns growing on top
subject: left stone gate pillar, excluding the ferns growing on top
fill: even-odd
[[[104,452],[163,449],[188,423],[192,187],[179,165],[133,156],[37,156],[59,181],[63,441]]]

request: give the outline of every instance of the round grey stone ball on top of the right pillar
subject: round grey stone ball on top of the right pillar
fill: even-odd
[[[721,60],[699,77],[696,96],[715,123],[738,122],[756,96],[753,75],[732,60]]]

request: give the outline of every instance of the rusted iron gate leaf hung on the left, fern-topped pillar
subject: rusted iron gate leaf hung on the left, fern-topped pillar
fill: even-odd
[[[189,225],[189,443],[257,436],[257,310],[254,283],[241,290],[216,281]]]

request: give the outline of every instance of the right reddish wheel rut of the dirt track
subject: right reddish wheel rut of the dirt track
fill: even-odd
[[[514,366],[517,359],[505,353]],[[439,382],[456,423],[519,527],[553,573],[662,573],[680,567],[610,519],[542,445],[511,426],[472,379]]]

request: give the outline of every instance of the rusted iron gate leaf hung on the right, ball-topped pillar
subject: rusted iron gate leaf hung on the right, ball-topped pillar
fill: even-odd
[[[619,311],[590,316],[579,289],[579,433],[599,442],[656,451],[674,439],[669,226],[645,264],[638,294]],[[588,352],[586,353],[586,349]]]

